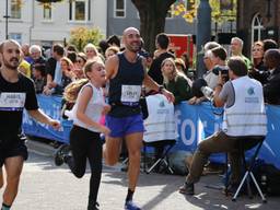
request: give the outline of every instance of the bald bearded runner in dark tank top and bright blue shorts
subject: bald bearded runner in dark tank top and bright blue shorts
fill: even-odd
[[[112,110],[106,116],[106,124],[112,130],[106,140],[105,159],[108,165],[118,162],[121,140],[125,139],[129,153],[128,194],[125,209],[140,209],[132,202],[139,172],[141,147],[143,139],[143,120],[139,106],[141,86],[164,94],[170,102],[174,101],[172,93],[155,83],[145,72],[144,59],[139,56],[140,33],[135,27],[124,31],[122,40],[126,49],[122,54],[110,57],[106,65],[109,81],[108,100]]]

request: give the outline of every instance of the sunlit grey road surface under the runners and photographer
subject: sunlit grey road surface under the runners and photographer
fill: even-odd
[[[18,198],[13,210],[85,210],[89,192],[89,172],[83,178],[75,178],[66,165],[56,167],[51,158],[52,150],[46,145],[32,145],[30,159],[25,163]],[[35,143],[37,144],[37,143]],[[48,151],[49,149],[49,151]],[[262,205],[259,197],[248,199],[246,196],[232,202],[220,190],[207,188],[206,185],[219,184],[217,175],[203,176],[196,185],[196,195],[184,197],[178,187],[184,183],[183,176],[143,174],[135,200],[144,210],[197,210],[197,209],[280,209],[279,198],[268,198]],[[101,209],[124,209],[127,191],[126,173],[116,167],[104,166],[98,201]],[[3,189],[0,189],[2,194]],[[0,198],[0,201],[1,198]]]

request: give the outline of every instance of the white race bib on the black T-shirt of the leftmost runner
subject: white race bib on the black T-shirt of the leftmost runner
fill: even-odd
[[[26,93],[0,93],[0,110],[23,110]]]

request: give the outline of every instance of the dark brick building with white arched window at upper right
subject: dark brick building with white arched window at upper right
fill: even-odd
[[[279,43],[279,0],[238,0],[237,36],[244,40],[245,54],[256,40],[272,38]]]

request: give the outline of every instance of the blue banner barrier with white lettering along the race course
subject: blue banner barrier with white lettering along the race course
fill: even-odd
[[[35,122],[26,114],[23,117],[23,130],[26,135],[43,137],[68,143],[71,121],[61,119],[61,97],[37,95],[40,108],[49,116],[61,121],[61,129],[54,130],[49,126]],[[280,168],[280,107],[267,105],[268,135],[260,150],[259,156],[267,163]],[[219,130],[222,122],[221,108],[213,108],[210,103],[191,106],[182,103],[175,107],[175,117],[178,129],[178,142],[174,150],[195,151],[197,143]],[[214,154],[211,161],[223,162],[224,155]]]

